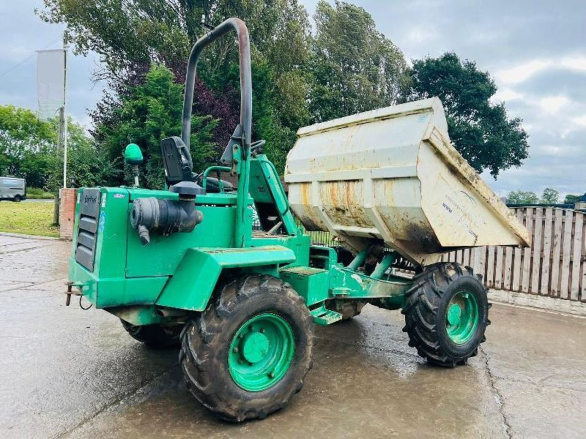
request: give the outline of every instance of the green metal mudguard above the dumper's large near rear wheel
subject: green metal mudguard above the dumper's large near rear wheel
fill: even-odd
[[[283,246],[252,248],[190,248],[156,301],[159,306],[203,311],[223,269],[278,267],[295,260]]]

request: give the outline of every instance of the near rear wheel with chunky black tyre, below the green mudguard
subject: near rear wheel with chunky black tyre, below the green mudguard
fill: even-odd
[[[305,301],[275,277],[227,283],[183,331],[179,361],[188,389],[229,421],[282,409],[311,368],[312,323]]]

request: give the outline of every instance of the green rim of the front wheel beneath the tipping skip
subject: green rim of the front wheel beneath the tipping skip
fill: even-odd
[[[449,301],[445,327],[449,339],[456,345],[468,342],[478,327],[478,300],[469,291],[459,291]]]

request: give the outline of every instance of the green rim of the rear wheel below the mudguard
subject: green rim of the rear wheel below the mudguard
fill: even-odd
[[[294,354],[295,338],[287,321],[277,314],[258,314],[234,334],[228,369],[244,390],[261,392],[285,376]]]

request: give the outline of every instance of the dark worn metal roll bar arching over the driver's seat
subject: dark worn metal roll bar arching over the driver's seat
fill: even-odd
[[[193,87],[197,70],[197,61],[204,47],[217,40],[224,33],[236,30],[238,35],[239,59],[240,59],[240,125],[243,129],[244,153],[250,152],[250,140],[253,114],[253,85],[250,71],[250,39],[248,29],[239,18],[229,18],[216,26],[206,35],[202,36],[194,44],[187,65],[185,76],[185,94],[183,95],[183,117],[181,124],[181,139],[189,151],[189,138],[191,135],[191,113],[193,106]]]

